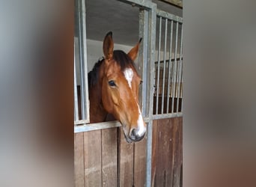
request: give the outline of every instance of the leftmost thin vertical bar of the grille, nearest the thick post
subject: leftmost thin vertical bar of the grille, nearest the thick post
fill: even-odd
[[[161,34],[162,34],[162,17],[159,17],[159,40],[158,40],[158,56],[157,56],[157,85],[156,85],[156,114],[158,114],[159,102],[159,74],[160,74],[160,53],[161,53]]]

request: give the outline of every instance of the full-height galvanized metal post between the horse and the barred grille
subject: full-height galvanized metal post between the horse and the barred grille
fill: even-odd
[[[150,76],[150,105],[149,123],[147,124],[147,165],[146,165],[146,186],[151,186],[151,162],[152,162],[152,129],[153,129],[153,75],[155,73],[155,49],[156,49],[156,4],[152,3],[148,16],[148,76]]]

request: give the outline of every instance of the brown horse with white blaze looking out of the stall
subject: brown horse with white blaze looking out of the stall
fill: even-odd
[[[91,123],[106,121],[112,114],[122,124],[129,143],[140,141],[147,129],[138,106],[141,77],[133,62],[140,42],[128,54],[114,51],[112,32],[109,32],[103,42],[105,57],[88,73]]]

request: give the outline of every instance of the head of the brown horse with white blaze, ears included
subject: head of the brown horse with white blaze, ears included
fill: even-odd
[[[113,50],[112,32],[106,34],[103,42],[105,58],[100,72],[103,107],[122,124],[127,142],[140,141],[147,129],[138,105],[141,77],[134,66],[140,42],[128,54]]]

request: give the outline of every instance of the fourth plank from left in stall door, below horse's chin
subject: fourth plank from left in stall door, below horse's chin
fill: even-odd
[[[126,187],[133,184],[133,145],[127,143],[123,129],[119,128],[119,186]]]

